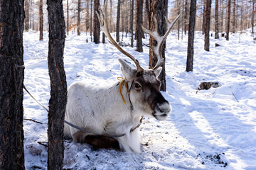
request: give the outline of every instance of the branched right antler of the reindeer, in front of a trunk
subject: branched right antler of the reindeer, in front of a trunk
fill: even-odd
[[[158,27],[157,27],[156,17],[154,17],[154,21],[156,23],[156,27],[154,28],[153,31],[148,30],[148,29],[146,29],[146,28],[144,28],[142,26],[142,30],[145,33],[151,35],[154,38],[154,40],[156,40],[156,42],[157,42],[156,46],[151,47],[151,49],[153,50],[154,54],[157,57],[157,62],[156,62],[155,67],[153,68],[153,70],[156,70],[158,67],[161,66],[161,64],[164,64],[164,58],[161,56],[161,47],[163,46],[164,41],[166,40],[167,36],[171,32],[171,28],[174,27],[174,24],[176,23],[176,21],[178,21],[178,18],[180,16],[181,15],[178,15],[172,23],[170,23],[169,20],[165,17],[165,21],[166,21],[166,24],[167,24],[167,31],[166,31],[166,33],[163,36],[159,35],[159,33],[157,32],[157,28]]]

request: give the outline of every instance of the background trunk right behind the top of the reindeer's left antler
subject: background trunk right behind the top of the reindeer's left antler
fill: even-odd
[[[94,23],[94,30],[93,30],[93,42],[95,44],[100,43],[100,22],[97,18],[96,11],[100,6],[100,0],[94,1],[94,14],[93,14],[93,23]]]

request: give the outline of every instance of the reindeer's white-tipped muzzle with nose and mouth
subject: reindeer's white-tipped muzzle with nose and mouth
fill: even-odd
[[[171,105],[169,104],[168,101],[164,101],[163,103],[157,103],[154,117],[157,120],[166,120],[166,118],[170,113],[171,113]]]

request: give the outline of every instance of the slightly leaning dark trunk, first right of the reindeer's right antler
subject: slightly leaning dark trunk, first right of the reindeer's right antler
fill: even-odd
[[[196,25],[196,0],[191,0],[188,25],[188,56],[186,62],[186,71],[193,72],[193,40]]]

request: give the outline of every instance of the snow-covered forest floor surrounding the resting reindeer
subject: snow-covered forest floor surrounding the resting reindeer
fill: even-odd
[[[89,34],[68,35],[65,40],[65,72],[68,86],[87,81],[95,86],[114,84],[122,77],[118,58],[127,59],[110,43],[95,45]],[[24,33],[24,83],[44,106],[50,98],[48,34]],[[129,38],[124,39],[129,42]],[[149,40],[144,40],[144,43]],[[215,42],[220,47],[215,47]],[[210,52],[203,50],[203,35],[196,33],[193,72],[186,72],[187,37],[167,39],[166,81],[163,95],[173,111],[165,121],[144,118],[140,127],[142,154],[93,149],[65,141],[65,169],[256,169],[256,44],[250,33],[210,38]],[[136,52],[142,67],[148,65],[149,49]],[[128,59],[127,59],[128,60]],[[203,81],[221,86],[198,91]],[[47,168],[48,113],[24,92],[26,169]]]

